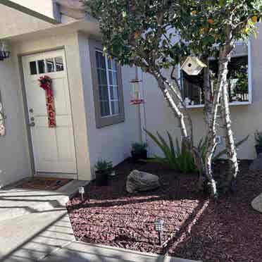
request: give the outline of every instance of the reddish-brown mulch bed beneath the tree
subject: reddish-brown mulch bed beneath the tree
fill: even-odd
[[[262,172],[249,172],[249,161],[240,166],[235,194],[221,197],[215,206],[195,192],[196,175],[175,173],[151,163],[120,163],[111,186],[96,187],[92,182],[86,188],[85,203],[78,198],[68,203],[75,237],[93,244],[206,262],[262,261],[262,213],[250,205],[262,192]],[[162,187],[128,194],[126,177],[135,168],[159,175]],[[218,163],[216,170],[223,169]],[[166,247],[158,247],[156,218],[165,220]]]

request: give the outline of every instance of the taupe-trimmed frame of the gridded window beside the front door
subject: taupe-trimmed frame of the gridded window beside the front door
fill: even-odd
[[[96,128],[106,127],[108,125],[116,125],[118,123],[123,123],[125,121],[125,108],[124,108],[124,97],[123,97],[123,80],[122,80],[122,70],[120,65],[117,65],[117,76],[118,76],[118,105],[119,113],[110,116],[101,116],[101,106],[99,99],[99,77],[96,68],[96,51],[102,51],[101,42],[94,39],[89,39],[89,52],[90,52],[90,64],[92,73],[92,87],[94,96],[94,111],[96,117]],[[108,101],[109,110],[111,111],[111,85],[109,83],[109,71],[108,71],[108,61],[106,59],[106,81],[108,89]]]

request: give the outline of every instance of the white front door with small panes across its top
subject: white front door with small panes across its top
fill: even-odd
[[[65,53],[49,51],[23,56],[22,60],[35,171],[76,173]],[[48,125],[45,91],[39,87],[38,79],[44,75],[52,80],[56,127]]]

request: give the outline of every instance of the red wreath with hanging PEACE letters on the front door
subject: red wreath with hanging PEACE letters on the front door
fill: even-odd
[[[39,86],[46,92],[46,111],[49,127],[56,127],[56,111],[54,107],[54,96],[52,92],[52,80],[49,76],[39,78]]]

